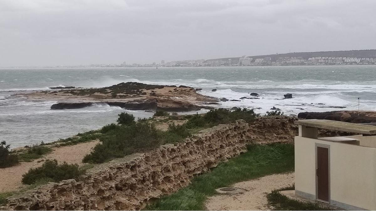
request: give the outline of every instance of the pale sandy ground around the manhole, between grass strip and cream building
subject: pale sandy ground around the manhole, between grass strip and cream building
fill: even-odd
[[[266,193],[288,187],[294,183],[294,173],[274,174],[244,182],[230,187],[246,190],[243,194],[217,194],[209,197],[205,206],[208,210],[270,210]]]

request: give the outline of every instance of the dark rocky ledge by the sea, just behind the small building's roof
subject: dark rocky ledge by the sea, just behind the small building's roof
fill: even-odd
[[[298,118],[303,119],[329,119],[352,123],[376,122],[376,112],[374,111],[332,111],[332,112],[302,112]]]

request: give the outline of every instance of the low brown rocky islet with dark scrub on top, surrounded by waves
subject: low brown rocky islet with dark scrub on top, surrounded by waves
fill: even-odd
[[[30,100],[58,101],[51,106],[51,109],[81,109],[96,104],[108,104],[128,110],[185,112],[213,109],[209,105],[217,104],[216,102],[219,101],[216,98],[201,95],[188,86],[163,86],[136,82],[120,83],[103,88],[70,88],[18,95]]]

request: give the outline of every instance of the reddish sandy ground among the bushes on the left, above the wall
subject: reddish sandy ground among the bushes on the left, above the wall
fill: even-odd
[[[71,146],[54,147],[53,151],[43,158],[33,160],[32,162],[21,162],[17,166],[0,169],[0,192],[13,191],[22,188],[22,175],[30,168],[41,166],[46,159],[56,159],[59,162],[77,163],[82,165],[82,158],[89,154],[99,140],[87,143],[80,143]]]

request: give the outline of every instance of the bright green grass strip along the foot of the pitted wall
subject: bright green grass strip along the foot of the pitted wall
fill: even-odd
[[[235,182],[294,170],[294,146],[274,143],[250,145],[248,151],[221,163],[211,172],[196,176],[190,185],[149,204],[146,210],[203,210],[215,189]]]

